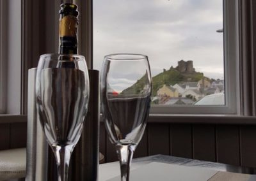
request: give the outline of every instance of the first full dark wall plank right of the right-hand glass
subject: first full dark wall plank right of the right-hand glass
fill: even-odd
[[[148,154],[170,155],[170,128],[169,124],[148,125]]]

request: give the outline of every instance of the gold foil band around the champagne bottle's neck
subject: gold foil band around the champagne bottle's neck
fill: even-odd
[[[76,36],[77,18],[67,15],[60,20],[60,36]]]

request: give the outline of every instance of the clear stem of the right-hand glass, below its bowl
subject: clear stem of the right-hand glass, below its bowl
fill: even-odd
[[[121,181],[129,181],[130,165],[135,148],[135,145],[116,145],[121,170]]]

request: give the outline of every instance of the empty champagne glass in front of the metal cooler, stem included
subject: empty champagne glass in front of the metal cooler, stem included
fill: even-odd
[[[70,156],[88,110],[89,79],[81,55],[45,54],[36,72],[36,106],[58,167],[58,181],[68,179]]]

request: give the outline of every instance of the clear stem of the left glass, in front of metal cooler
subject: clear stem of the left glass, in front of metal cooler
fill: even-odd
[[[68,168],[73,148],[73,145],[52,147],[58,168],[58,181],[68,180]]]

